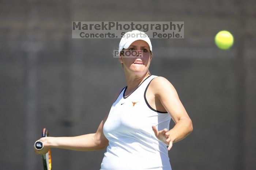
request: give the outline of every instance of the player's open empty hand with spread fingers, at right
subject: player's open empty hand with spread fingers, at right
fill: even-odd
[[[167,148],[169,151],[173,146],[173,141],[171,139],[171,136],[170,136],[168,130],[165,128],[161,131],[158,131],[157,127],[155,127],[154,125],[152,125],[152,129],[153,129],[155,136],[157,137],[158,140],[161,140],[166,145],[169,145]]]

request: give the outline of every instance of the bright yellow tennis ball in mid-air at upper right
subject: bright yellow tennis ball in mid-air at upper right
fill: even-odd
[[[234,43],[233,35],[229,31],[219,31],[215,35],[215,44],[222,50],[229,49]]]

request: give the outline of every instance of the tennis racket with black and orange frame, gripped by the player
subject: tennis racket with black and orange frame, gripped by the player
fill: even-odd
[[[46,128],[43,129],[42,131],[42,137],[48,137],[49,136],[49,132]],[[35,142],[35,148],[37,150],[42,150],[42,148],[44,147],[44,144],[41,141],[37,141]],[[52,157],[51,157],[51,150],[49,149],[48,153],[46,153],[45,155],[42,155],[42,159],[43,159],[43,166],[44,166],[44,170],[51,170],[52,169]]]

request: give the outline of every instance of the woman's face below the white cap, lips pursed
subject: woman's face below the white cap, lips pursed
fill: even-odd
[[[148,43],[143,40],[136,40],[128,47],[128,49],[125,49],[125,51],[126,50],[129,50],[131,52],[134,50],[142,50],[140,51],[142,57],[140,57],[139,55],[130,55],[129,57],[120,55],[119,61],[123,63],[124,70],[131,74],[146,74],[148,72],[148,67],[152,58],[152,56],[150,55]],[[138,51],[137,53],[135,52],[136,51],[134,51],[134,53],[132,54],[139,54]]]

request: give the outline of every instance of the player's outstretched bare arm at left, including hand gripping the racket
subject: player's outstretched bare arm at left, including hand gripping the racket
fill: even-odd
[[[116,98],[121,93],[118,90],[115,96]],[[103,125],[108,118],[108,114],[99,124],[97,131],[94,134],[86,134],[74,137],[47,137],[39,139],[43,144],[44,148],[40,151],[34,148],[36,154],[46,154],[49,148],[63,148],[75,151],[95,151],[102,150],[108,145],[108,139],[103,134]]]

